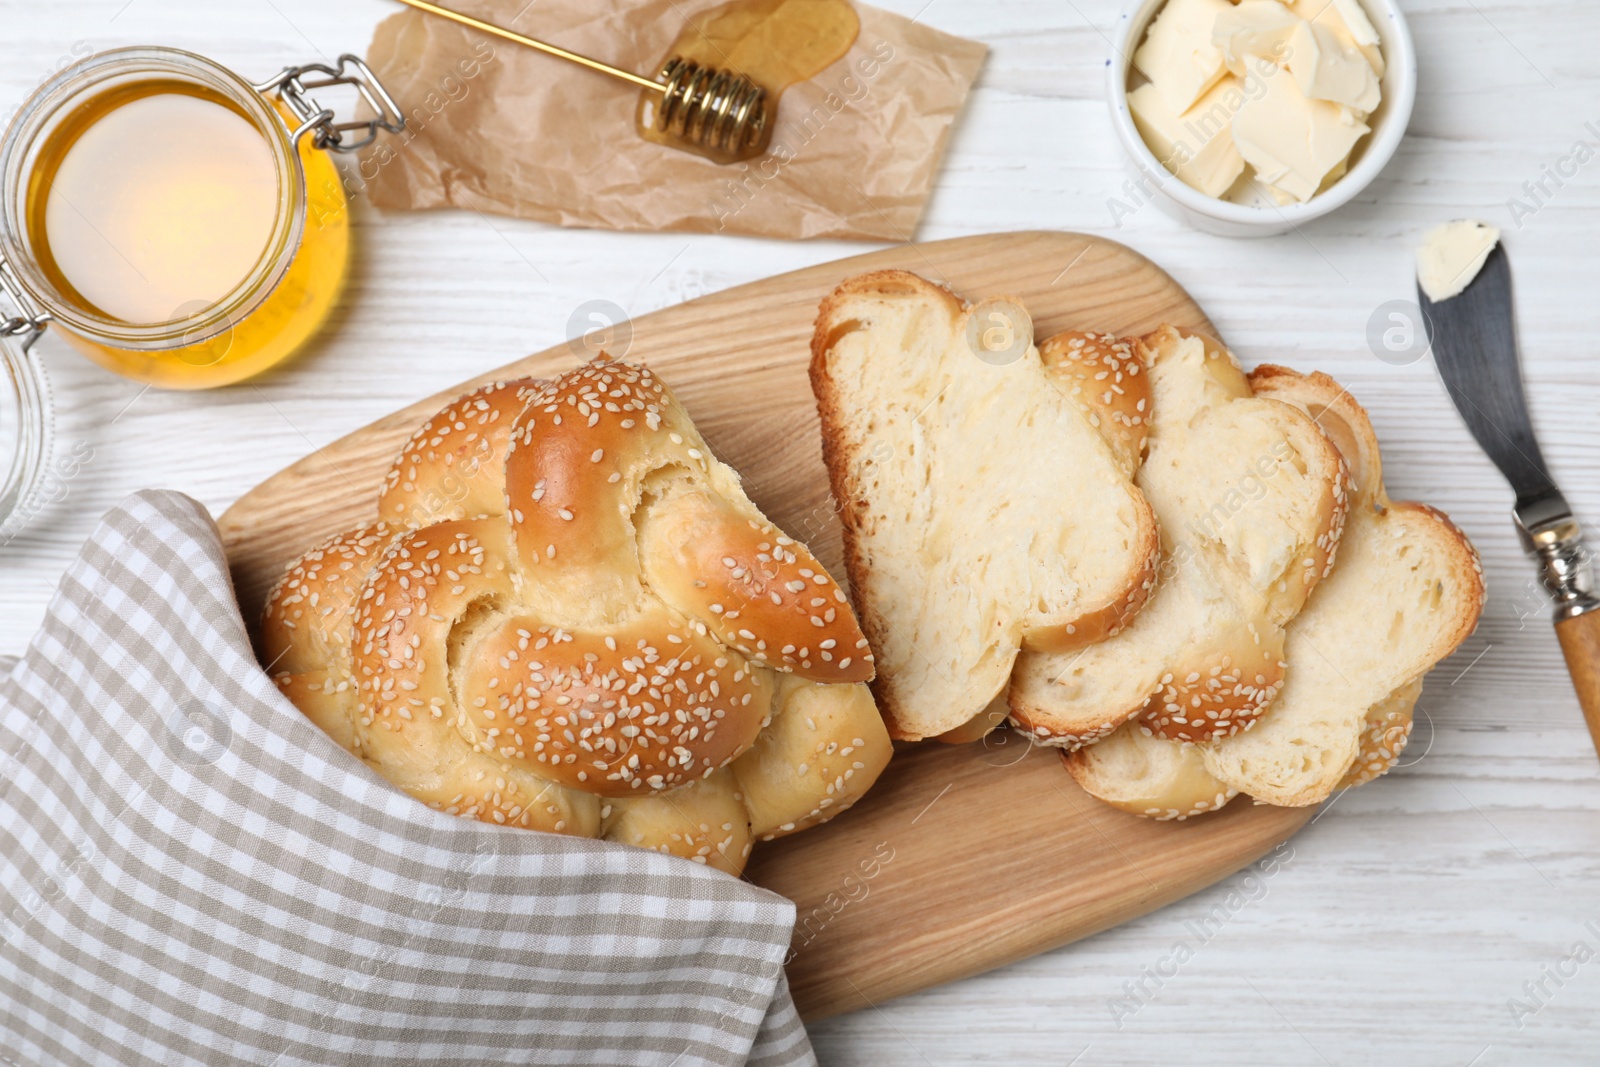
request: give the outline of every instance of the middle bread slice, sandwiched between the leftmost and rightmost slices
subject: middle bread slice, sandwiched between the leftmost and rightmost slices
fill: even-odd
[[[1254,397],[1232,354],[1163,326],[1139,342],[1154,400],[1138,482],[1162,523],[1155,592],[1126,629],[1077,653],[1024,653],[1011,718],[1075,749],[1144,717],[1216,741],[1283,683],[1285,624],[1333,565],[1347,475],[1306,413]]]

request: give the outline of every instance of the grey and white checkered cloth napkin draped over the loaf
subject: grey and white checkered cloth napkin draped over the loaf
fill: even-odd
[[[184,496],[110,512],[6,667],[0,1064],[814,1064],[789,901],[368,773]]]

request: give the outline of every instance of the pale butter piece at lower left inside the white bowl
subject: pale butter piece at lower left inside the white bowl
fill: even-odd
[[[1238,83],[1229,77],[1181,115],[1173,114],[1155,85],[1128,93],[1133,125],[1144,144],[1181,182],[1208,197],[1221,197],[1245,170],[1232,128],[1243,101]]]

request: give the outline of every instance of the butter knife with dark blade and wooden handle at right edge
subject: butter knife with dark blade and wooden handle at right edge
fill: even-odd
[[[1496,245],[1478,277],[1445,301],[1418,286],[1434,365],[1478,446],[1517,493],[1512,518],[1555,603],[1555,637],[1600,750],[1600,598],[1582,530],[1533,437],[1517,355],[1510,264]]]

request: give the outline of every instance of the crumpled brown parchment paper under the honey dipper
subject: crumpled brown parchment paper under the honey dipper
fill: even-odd
[[[458,10],[651,75],[723,0],[454,0]],[[406,131],[360,160],[381,208],[560,226],[910,240],[987,48],[856,5],[850,53],[781,99],[771,149],[717,165],[634,130],[638,91],[438,16],[378,26],[366,59]]]

